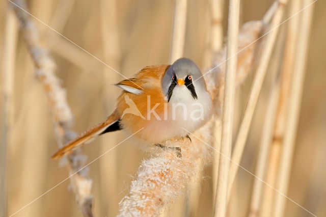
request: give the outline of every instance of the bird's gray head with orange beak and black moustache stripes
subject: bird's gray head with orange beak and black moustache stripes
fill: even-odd
[[[191,92],[194,99],[198,98],[199,92],[206,91],[204,78],[194,61],[180,58],[165,73],[162,79],[162,89],[168,101],[174,88],[178,85],[184,85]]]

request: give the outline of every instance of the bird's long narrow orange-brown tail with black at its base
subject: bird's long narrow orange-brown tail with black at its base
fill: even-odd
[[[73,150],[78,148],[84,143],[90,142],[95,139],[98,135],[104,134],[106,132],[112,132],[120,130],[119,117],[116,112],[108,116],[104,121],[94,126],[93,128],[87,130],[86,132],[80,134],[76,139],[72,140],[61,148],[57,153],[53,154],[53,159],[59,159],[63,155],[71,153]]]

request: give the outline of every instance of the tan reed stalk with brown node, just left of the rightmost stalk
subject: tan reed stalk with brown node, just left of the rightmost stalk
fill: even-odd
[[[290,1],[289,16],[300,10],[300,1]],[[293,73],[293,61],[295,58],[296,41],[298,36],[298,21],[301,15],[297,15],[288,21],[287,38],[284,50],[284,60],[282,61],[281,71],[281,90],[278,102],[278,110],[276,116],[275,130],[273,141],[270,146],[270,154],[268,160],[268,168],[266,171],[266,182],[271,186],[275,186],[277,168],[281,154],[281,146],[283,142],[283,133],[285,127],[285,111],[289,100],[289,87]],[[265,187],[263,200],[261,205],[261,215],[269,216],[273,206],[274,190]]]

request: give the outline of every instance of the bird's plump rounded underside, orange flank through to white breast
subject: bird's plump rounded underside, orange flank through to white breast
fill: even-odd
[[[141,95],[122,94],[118,107],[124,129],[140,130],[136,137],[160,143],[202,126],[210,116],[211,99],[207,92],[194,99],[186,88],[176,87],[168,102],[160,89],[151,89]]]

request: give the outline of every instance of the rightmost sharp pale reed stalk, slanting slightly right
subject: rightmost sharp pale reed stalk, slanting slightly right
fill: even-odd
[[[303,0],[303,5],[308,6],[313,3],[311,0]],[[291,162],[295,146],[295,135],[298,124],[298,116],[300,114],[301,96],[303,92],[304,77],[307,63],[308,43],[310,36],[310,28],[312,22],[314,5],[310,5],[302,12],[301,26],[298,32],[300,37],[297,43],[297,52],[294,61],[292,85],[289,97],[289,106],[287,110],[287,120],[284,133],[284,143],[277,176],[277,189],[283,194],[287,193]],[[275,198],[274,216],[283,216],[285,210],[285,198],[278,194]]]

